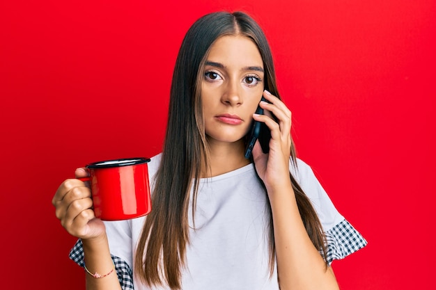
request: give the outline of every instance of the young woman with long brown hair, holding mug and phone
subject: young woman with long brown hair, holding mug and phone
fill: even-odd
[[[246,159],[253,120],[270,129],[270,151],[256,143]],[[198,19],[176,61],[163,152],[148,164],[152,212],[103,223],[78,179],[53,198],[79,238],[70,257],[87,289],[338,289],[330,263],[366,241],[295,157],[290,127],[258,24]]]

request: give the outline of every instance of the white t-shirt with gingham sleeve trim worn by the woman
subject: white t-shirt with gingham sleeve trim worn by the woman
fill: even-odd
[[[152,186],[160,159],[159,154],[148,163]],[[290,162],[290,172],[313,203],[327,232],[329,262],[366,245],[335,209],[306,163],[297,159],[296,169]],[[186,250],[187,267],[182,269],[182,289],[279,289],[277,267],[270,276],[268,264],[267,193],[254,164],[201,179],[196,202],[195,229],[189,213],[190,243]],[[125,261],[131,269],[145,218],[105,222],[111,255]],[[150,289],[134,273],[133,280],[134,289]]]

